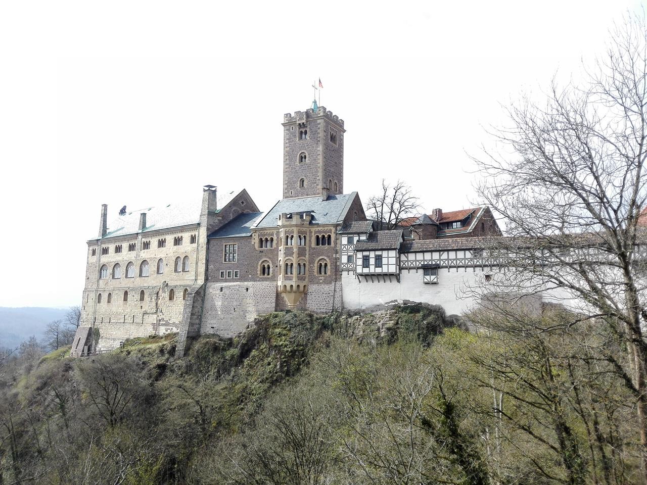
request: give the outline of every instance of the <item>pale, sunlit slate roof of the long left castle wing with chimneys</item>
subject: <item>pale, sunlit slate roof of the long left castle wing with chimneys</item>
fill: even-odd
[[[223,191],[217,195],[217,207],[225,207],[241,191]],[[125,215],[117,215],[108,219],[107,233],[102,238],[119,237],[139,232],[139,215],[146,212],[146,228],[142,231],[157,231],[160,229],[189,226],[200,222],[202,211],[202,193],[184,202],[173,202],[146,206],[135,210],[127,210]],[[118,214],[118,210],[115,211]]]

